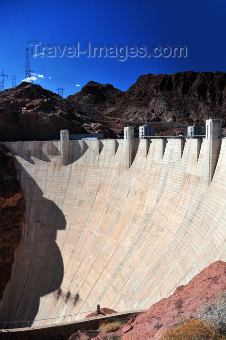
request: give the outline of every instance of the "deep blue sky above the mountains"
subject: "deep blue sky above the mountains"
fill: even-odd
[[[226,1],[178,0],[0,0],[0,72],[5,88],[24,79],[29,48],[35,84],[64,97],[93,80],[125,91],[141,74],[179,71],[226,72]],[[187,57],[32,56],[29,41],[42,45],[184,45]],[[0,80],[2,77],[0,77]],[[80,86],[79,86],[80,85]]]

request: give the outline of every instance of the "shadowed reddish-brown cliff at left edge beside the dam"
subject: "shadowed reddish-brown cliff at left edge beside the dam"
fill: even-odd
[[[24,216],[25,201],[17,181],[15,157],[0,145],[0,299],[11,277]]]

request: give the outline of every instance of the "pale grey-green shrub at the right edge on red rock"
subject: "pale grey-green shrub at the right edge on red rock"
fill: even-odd
[[[202,306],[198,317],[211,323],[221,334],[226,334],[226,291],[219,296],[219,302]]]

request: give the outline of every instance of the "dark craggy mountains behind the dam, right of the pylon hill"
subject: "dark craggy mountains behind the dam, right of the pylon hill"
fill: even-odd
[[[226,126],[226,73],[147,74],[127,91],[89,82],[71,100],[87,103],[106,117],[205,125],[209,116]],[[69,97],[68,97],[69,98]]]

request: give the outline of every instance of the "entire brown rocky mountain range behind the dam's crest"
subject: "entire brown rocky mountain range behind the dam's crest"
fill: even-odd
[[[128,123],[138,132],[146,120],[156,135],[172,136],[186,134],[194,121],[205,126],[209,116],[222,119],[225,136],[226,73],[147,74],[125,92],[90,81],[66,99],[30,83],[0,92],[2,141],[59,139],[61,129],[115,138]]]

